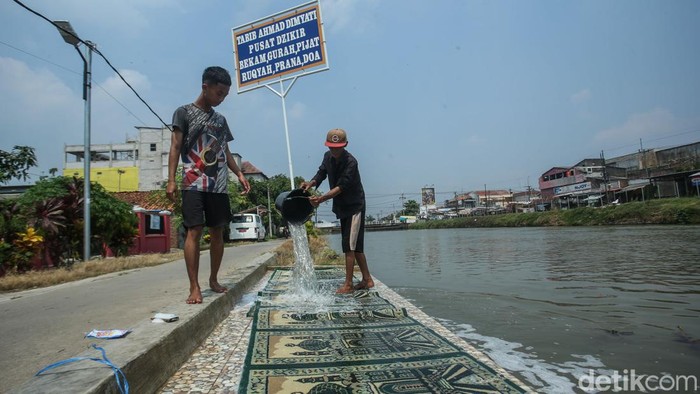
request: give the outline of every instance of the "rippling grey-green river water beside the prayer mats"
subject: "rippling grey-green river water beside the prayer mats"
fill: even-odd
[[[365,254],[539,392],[580,391],[584,375],[700,377],[700,226],[368,232]]]

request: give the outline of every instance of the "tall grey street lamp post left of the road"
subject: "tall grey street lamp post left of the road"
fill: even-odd
[[[72,45],[83,59],[83,101],[85,101],[84,113],[84,142],[83,142],[83,258],[90,260],[90,88],[92,84],[92,50],[95,44],[90,41],[82,41],[73,30],[68,21],[54,21],[54,25],[61,33],[63,41]],[[80,51],[80,44],[85,46],[85,55]]]

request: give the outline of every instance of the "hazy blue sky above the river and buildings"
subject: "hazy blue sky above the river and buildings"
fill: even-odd
[[[23,1],[69,20],[167,123],[197,97],[205,67],[234,75],[232,28],[305,2]],[[311,178],[326,132],[345,129],[375,217],[420,201],[426,186],[438,202],[521,191],[601,153],[700,141],[698,1],[320,4],[329,70],[299,78],[285,100],[294,175]],[[82,67],[54,26],[0,1],[0,149],[34,147],[35,178],[63,167],[64,144],[83,143]],[[97,55],[92,71],[92,143],[161,126]],[[236,91],[217,107],[231,150],[289,176],[282,100]]]

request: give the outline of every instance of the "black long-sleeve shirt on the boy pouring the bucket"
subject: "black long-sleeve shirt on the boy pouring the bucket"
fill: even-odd
[[[330,189],[340,187],[340,194],[333,198],[333,213],[338,219],[352,216],[365,208],[365,190],[362,187],[357,160],[344,150],[337,160],[328,151],[312,180],[316,187],[328,177]]]

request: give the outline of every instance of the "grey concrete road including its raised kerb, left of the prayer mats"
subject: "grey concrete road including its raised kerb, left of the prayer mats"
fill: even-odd
[[[92,361],[68,364],[39,377],[41,368],[71,357],[96,357],[97,344],[126,374],[131,392],[154,392],[185,362],[245,289],[265,274],[283,241],[226,248],[219,280],[230,291],[204,291],[204,303],[187,305],[184,260],[64,285],[0,294],[0,393],[118,392],[110,368]],[[209,254],[199,279],[208,288]],[[157,312],[179,321],[152,323]],[[84,338],[93,329],[131,329],[125,338]]]

